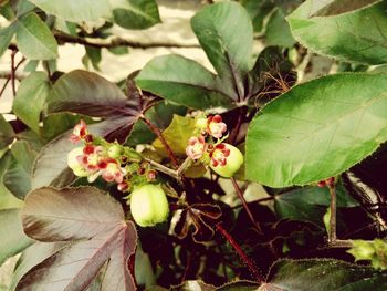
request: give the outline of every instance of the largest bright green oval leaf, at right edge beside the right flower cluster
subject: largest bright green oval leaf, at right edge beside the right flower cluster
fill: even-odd
[[[336,176],[387,139],[387,75],[337,74],[293,87],[250,123],[247,178],[271,187]]]

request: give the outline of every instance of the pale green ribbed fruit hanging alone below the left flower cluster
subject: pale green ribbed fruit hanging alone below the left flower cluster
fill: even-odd
[[[134,188],[130,195],[130,211],[142,227],[153,227],[168,218],[167,196],[159,185],[147,184]]]

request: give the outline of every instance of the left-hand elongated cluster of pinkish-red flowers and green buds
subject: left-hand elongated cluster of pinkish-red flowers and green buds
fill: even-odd
[[[70,141],[84,142],[69,153],[67,164],[74,175],[87,177],[90,183],[102,177],[107,183],[116,183],[118,190],[128,191],[133,180],[140,184],[156,178],[157,173],[134,149],[94,137],[83,121],[75,125]]]

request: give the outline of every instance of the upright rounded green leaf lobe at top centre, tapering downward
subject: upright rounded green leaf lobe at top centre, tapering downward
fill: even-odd
[[[245,9],[236,2],[205,7],[191,25],[223,86],[243,97],[243,80],[252,67],[253,29]]]

